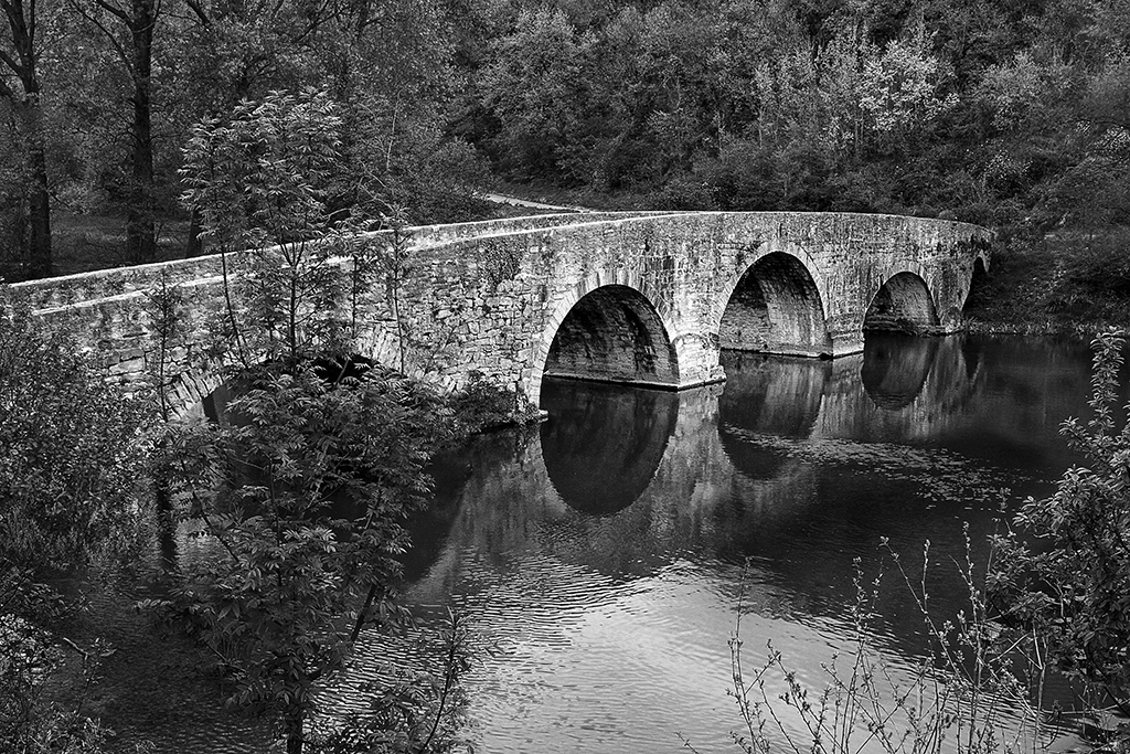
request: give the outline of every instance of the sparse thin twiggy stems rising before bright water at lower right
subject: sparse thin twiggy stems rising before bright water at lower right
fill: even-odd
[[[939,622],[932,615],[927,577],[930,543],[922,549],[921,577],[913,579],[898,553],[883,540],[884,562],[868,579],[855,558],[854,600],[846,648],[820,665],[820,683],[802,679],[802,668],[772,640],[755,664],[741,634],[739,599],[730,639],[734,700],[740,729],[731,733],[746,754],[989,754],[1037,751],[1043,746],[1037,708],[1014,673],[1016,647],[990,619],[970,557],[960,578],[965,612]],[[892,566],[922,617],[927,650],[911,667],[897,666],[877,643],[877,605]],[[692,751],[693,743],[684,739]]]

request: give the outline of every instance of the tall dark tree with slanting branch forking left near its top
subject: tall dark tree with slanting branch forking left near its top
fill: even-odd
[[[5,0],[6,2],[9,0]],[[130,156],[125,190],[125,245],[134,265],[157,257],[153,140],[153,60],[162,0],[72,0],[108,40],[130,80]],[[115,28],[116,27],[116,28]]]

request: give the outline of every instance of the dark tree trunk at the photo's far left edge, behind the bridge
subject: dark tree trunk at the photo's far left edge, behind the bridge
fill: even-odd
[[[16,113],[21,150],[24,151],[23,193],[27,232],[19,234],[21,276],[51,275],[51,202],[47,192],[47,158],[40,90],[36,33],[36,0],[0,0],[8,23],[8,34],[0,42],[0,98]],[[19,225],[23,225],[20,222]]]

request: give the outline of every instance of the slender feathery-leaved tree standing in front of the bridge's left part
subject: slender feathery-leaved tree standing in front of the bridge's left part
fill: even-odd
[[[400,619],[402,523],[452,433],[434,391],[351,352],[351,294],[376,265],[354,243],[360,220],[334,201],[349,196],[340,128],[329,97],[307,90],[242,103],[231,122],[195,129],[185,199],[209,243],[250,250],[246,281],[226,287],[218,349],[234,356],[235,397],[219,422],[171,427],[158,471],[179,515],[201,521],[219,548],[186,567],[163,605],[219,659],[233,705],[269,716],[292,753],[310,738],[314,684],[341,667],[364,626]],[[351,265],[334,259],[354,252]],[[410,704],[429,709],[417,692]],[[436,700],[446,700],[438,726],[451,708],[447,694]],[[380,720],[403,737],[405,718]],[[406,745],[435,751],[447,740],[436,726],[408,726]]]

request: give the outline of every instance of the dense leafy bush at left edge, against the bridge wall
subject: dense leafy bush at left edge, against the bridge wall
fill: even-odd
[[[0,296],[0,555],[82,564],[141,530],[144,404],[106,384],[66,328]]]

